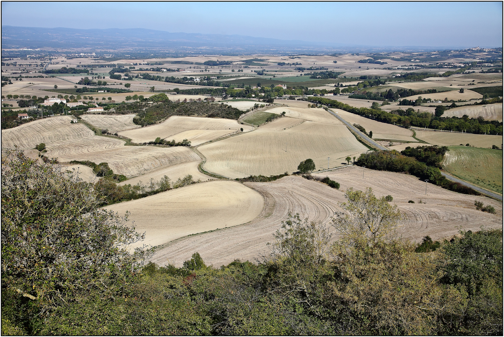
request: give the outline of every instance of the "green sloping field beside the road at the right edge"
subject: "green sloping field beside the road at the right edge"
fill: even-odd
[[[500,144],[495,144],[500,146]],[[449,146],[443,168],[475,185],[502,193],[502,151]]]

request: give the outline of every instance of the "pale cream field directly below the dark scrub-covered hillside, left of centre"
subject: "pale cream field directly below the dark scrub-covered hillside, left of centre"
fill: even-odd
[[[171,141],[177,133],[193,130],[195,132],[188,134],[187,136],[191,138],[187,139],[191,141],[192,145],[197,145],[198,142],[199,144],[205,143],[225,134],[236,132],[241,127],[243,131],[253,129],[251,126],[239,124],[234,119],[172,116],[160,124],[122,131],[119,134],[130,138],[134,143],[144,143],[154,141],[158,137]]]

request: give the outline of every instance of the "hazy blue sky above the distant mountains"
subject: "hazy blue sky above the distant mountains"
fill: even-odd
[[[502,46],[501,2],[2,2],[2,24],[148,28],[369,46]]]

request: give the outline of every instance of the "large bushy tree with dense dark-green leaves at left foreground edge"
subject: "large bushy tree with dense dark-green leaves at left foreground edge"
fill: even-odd
[[[120,298],[150,253],[130,252],[144,235],[126,225],[127,216],[98,208],[92,187],[22,152],[2,157],[2,300],[20,308],[20,320],[91,291]]]

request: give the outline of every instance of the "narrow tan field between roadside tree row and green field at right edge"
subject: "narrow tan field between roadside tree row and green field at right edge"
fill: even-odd
[[[502,136],[491,134],[458,133],[448,131],[415,130],[416,138],[432,145],[460,145],[470,144],[477,148],[491,148],[492,145],[502,144]]]

